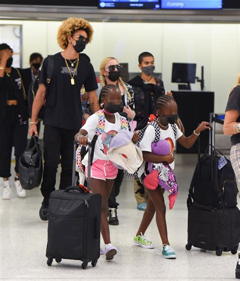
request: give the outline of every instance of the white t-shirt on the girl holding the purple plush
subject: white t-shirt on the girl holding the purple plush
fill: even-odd
[[[175,125],[176,125],[176,128],[177,128],[176,138],[175,138],[175,135],[174,135],[173,128],[170,124],[169,124],[167,130],[163,130],[163,129],[160,128],[160,131],[161,131],[160,139],[166,139],[170,143],[172,155],[173,155],[173,152],[174,152],[176,140],[183,135],[183,133],[178,128],[177,124],[175,124]],[[151,144],[154,142],[154,139],[155,139],[155,129],[154,129],[153,126],[149,125],[146,128],[146,131],[143,135],[143,138],[142,138],[142,140],[139,144],[139,148],[141,149],[141,151],[151,152],[152,151]],[[172,169],[174,169],[174,164],[175,164],[175,162],[170,164],[170,167]]]

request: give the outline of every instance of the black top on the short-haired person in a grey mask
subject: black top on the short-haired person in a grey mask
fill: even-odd
[[[136,117],[134,120],[141,121],[150,114],[156,114],[155,101],[162,95],[165,95],[164,82],[156,79],[156,85],[152,83],[145,84],[138,75],[128,82],[133,87],[134,105]]]

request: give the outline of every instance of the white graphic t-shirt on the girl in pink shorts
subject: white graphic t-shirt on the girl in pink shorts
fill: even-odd
[[[105,127],[104,132],[100,134],[97,138],[95,149],[94,149],[94,157],[93,162],[97,159],[100,160],[108,160],[107,151],[109,150],[111,139],[114,135],[117,134],[119,130],[121,130],[121,116],[119,113],[115,113],[115,123],[110,123],[105,118]],[[96,134],[96,129],[98,126],[98,115],[93,114],[88,119],[82,129],[88,132],[88,140],[92,142],[94,135]],[[88,165],[88,154],[84,157],[82,161],[83,165],[87,167]]]

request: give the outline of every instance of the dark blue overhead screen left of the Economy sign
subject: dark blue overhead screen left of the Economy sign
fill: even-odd
[[[160,9],[159,0],[99,0],[98,7],[102,9]]]

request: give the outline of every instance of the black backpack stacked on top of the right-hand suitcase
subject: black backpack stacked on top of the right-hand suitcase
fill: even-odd
[[[200,138],[198,137],[198,163],[190,184],[187,206],[194,202],[214,208],[235,207],[237,205],[237,183],[235,174],[228,160],[220,151],[213,147],[211,128],[210,155],[207,153],[200,158]],[[226,164],[219,169],[220,158],[225,158]]]

